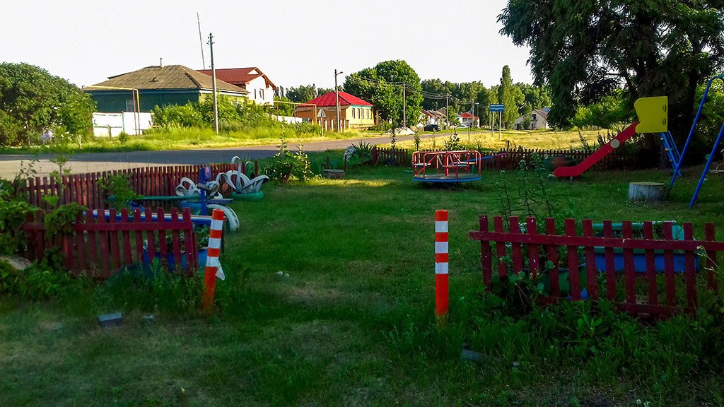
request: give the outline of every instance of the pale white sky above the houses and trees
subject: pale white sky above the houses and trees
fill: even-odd
[[[332,88],[388,59],[421,79],[531,83],[528,49],[500,35],[506,0],[5,0],[0,62],[27,62],[79,86],[149,65],[201,69],[196,12],[209,67],[258,67],[285,88]]]

